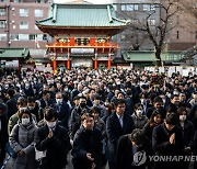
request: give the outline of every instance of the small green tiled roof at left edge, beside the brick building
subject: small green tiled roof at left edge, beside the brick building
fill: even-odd
[[[30,56],[28,48],[0,48],[0,58],[26,58]]]

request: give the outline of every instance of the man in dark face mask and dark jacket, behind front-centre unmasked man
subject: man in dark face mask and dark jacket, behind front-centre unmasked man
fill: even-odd
[[[86,106],[86,98],[80,97],[79,99],[79,106],[74,108],[71,112],[70,120],[69,120],[69,133],[71,139],[73,139],[73,136],[76,132],[79,129],[81,125],[81,115],[83,111],[89,112],[89,108]]]

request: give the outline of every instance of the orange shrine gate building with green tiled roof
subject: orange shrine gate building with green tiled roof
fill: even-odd
[[[126,29],[127,22],[116,18],[112,4],[53,3],[49,16],[36,21],[38,29],[54,37],[46,45],[53,69],[59,66],[112,67],[117,43],[111,37]]]

